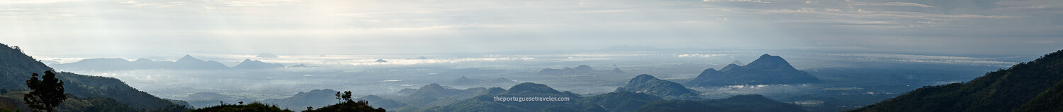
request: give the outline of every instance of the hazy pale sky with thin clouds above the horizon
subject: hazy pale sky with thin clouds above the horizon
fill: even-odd
[[[657,48],[1040,55],[1063,0],[0,0],[0,43],[51,53]]]

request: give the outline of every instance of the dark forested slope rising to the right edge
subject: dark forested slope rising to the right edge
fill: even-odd
[[[927,86],[897,97],[851,112],[1006,112],[1040,110],[1039,105],[1059,102],[1059,82],[1063,81],[1063,50],[1033,61],[1019,62],[967,82]],[[1041,95],[1039,95],[1041,94]],[[1040,98],[1039,98],[1040,97]],[[1044,101],[1050,100],[1050,101]],[[1030,104],[1033,102],[1033,104]],[[1042,104],[1044,102],[1044,104]],[[1030,107],[1019,109],[1024,104]],[[1032,108],[1032,109],[1031,109]],[[1052,108],[1058,108],[1058,105]]]

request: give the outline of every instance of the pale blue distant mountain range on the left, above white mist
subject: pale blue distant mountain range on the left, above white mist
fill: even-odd
[[[200,60],[197,59],[196,57],[192,57],[191,55],[185,55],[184,57],[181,57],[176,61],[154,61],[146,58],[139,58],[134,61],[129,61],[121,58],[94,58],[94,59],[83,59],[70,63],[53,63],[51,66],[60,69],[95,70],[95,71],[141,70],[141,69],[227,70],[227,69],[284,68],[283,64],[267,63],[259,60],[251,60],[251,59],[244,59],[236,67],[229,68],[225,64],[222,64],[221,62],[214,60]]]

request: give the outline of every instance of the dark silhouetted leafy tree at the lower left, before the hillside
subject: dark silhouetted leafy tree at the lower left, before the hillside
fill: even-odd
[[[26,80],[26,86],[32,91],[24,94],[22,100],[26,100],[26,105],[33,108],[34,112],[54,111],[60,102],[67,99],[67,94],[63,93],[66,90],[63,89],[63,80],[55,78],[55,73],[51,70],[45,71],[41,79],[37,76],[37,73],[33,73],[30,79]]]

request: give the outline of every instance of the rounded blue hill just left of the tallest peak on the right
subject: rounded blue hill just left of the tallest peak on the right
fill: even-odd
[[[617,88],[617,91],[645,93],[668,99],[696,99],[699,95],[697,91],[687,89],[687,87],[684,87],[682,85],[669,80],[657,79],[657,77],[646,74],[635,76],[635,78],[627,81],[626,86]]]

